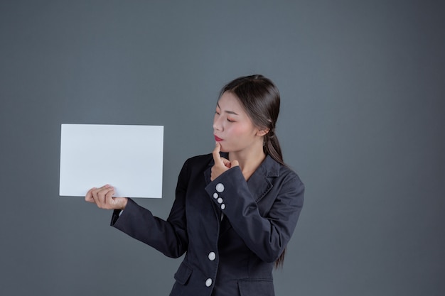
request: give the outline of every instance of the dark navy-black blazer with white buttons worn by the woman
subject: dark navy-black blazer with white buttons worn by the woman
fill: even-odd
[[[186,256],[171,296],[274,295],[274,261],[291,239],[304,185],[270,156],[246,182],[239,167],[210,182],[213,156],[184,163],[168,219],[129,199],[112,226],[168,257]]]

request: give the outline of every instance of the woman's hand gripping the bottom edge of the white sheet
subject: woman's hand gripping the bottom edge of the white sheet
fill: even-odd
[[[114,187],[111,185],[93,187],[85,195],[85,201],[95,203],[100,209],[125,209],[127,197],[113,197],[113,194]]]

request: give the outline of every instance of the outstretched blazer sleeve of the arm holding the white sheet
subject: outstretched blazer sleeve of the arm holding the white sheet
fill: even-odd
[[[186,221],[186,191],[188,185],[187,162],[178,177],[176,198],[167,220],[160,219],[144,207],[128,200],[122,214],[114,211],[111,226],[148,244],[171,258],[178,258],[188,248]]]

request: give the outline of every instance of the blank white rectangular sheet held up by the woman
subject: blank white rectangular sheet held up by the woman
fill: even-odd
[[[62,124],[60,196],[112,185],[116,197],[162,196],[163,126]]]

